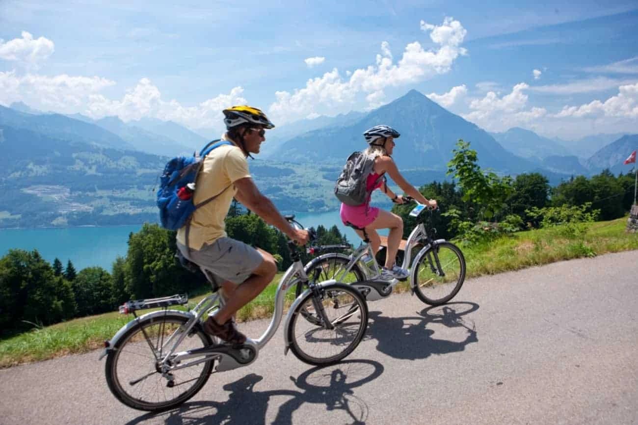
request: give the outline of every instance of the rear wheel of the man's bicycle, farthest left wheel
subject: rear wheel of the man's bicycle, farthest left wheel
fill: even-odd
[[[109,352],[105,368],[108,388],[119,401],[138,410],[161,411],[184,403],[204,387],[211,376],[212,360],[164,374],[161,370],[160,359],[184,331],[186,322],[186,317],[168,313],[142,320],[122,336]],[[211,343],[197,324],[178,350]]]

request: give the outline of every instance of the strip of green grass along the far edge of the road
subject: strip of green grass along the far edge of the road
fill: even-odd
[[[586,231],[573,235],[565,228],[551,228],[518,232],[510,237],[476,246],[462,247],[467,263],[467,278],[524,269],[572,258],[592,257],[604,253],[638,250],[638,234],[625,232],[627,217],[585,225]],[[262,294],[237,313],[237,320],[270,317],[274,296],[282,273]],[[407,290],[403,283],[397,290]],[[191,304],[207,294],[191,299]],[[294,291],[286,294],[289,305]],[[25,362],[51,359],[59,355],[82,353],[100,348],[117,330],[132,319],[117,312],[78,318],[60,324],[33,329],[0,340],[0,368]]]

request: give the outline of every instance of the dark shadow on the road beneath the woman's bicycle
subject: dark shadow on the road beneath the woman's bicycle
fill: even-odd
[[[431,306],[417,312],[416,317],[384,317],[380,311],[370,311],[373,322],[368,335],[378,341],[377,349],[396,359],[425,359],[432,354],[459,352],[470,343],[478,342],[474,322],[464,315],[479,309],[474,302],[450,302]],[[465,328],[463,341],[433,338],[436,334],[428,325],[441,324],[449,329]],[[450,332],[446,332],[449,334]],[[456,336],[456,332],[454,332]]]

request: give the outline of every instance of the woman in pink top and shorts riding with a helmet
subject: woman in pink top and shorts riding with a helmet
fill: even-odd
[[[392,202],[403,204],[405,202],[403,196],[396,195],[387,187],[387,184],[385,184],[384,174],[387,173],[392,181],[398,184],[406,195],[415,198],[415,200],[421,204],[435,208],[436,200],[427,200],[424,198],[412,184],[403,178],[403,175],[399,173],[396,164],[392,160],[391,155],[395,146],[394,139],[400,136],[399,132],[389,126],[380,125],[366,130],[363,135],[369,144],[364,154],[375,158],[373,172],[367,176],[367,191],[371,193],[373,190],[383,186],[385,195],[387,195]],[[382,176],[383,178],[380,178]],[[385,256],[385,265],[382,267],[381,278],[383,280],[404,279],[408,276],[408,271],[394,264],[397,250],[399,250],[399,242],[401,242],[401,237],[403,237],[403,220],[401,217],[389,211],[371,207],[370,198],[371,196],[367,197],[366,202],[361,205],[352,206],[341,204],[341,221],[343,221],[345,225],[355,228],[355,232],[357,232],[362,239],[365,239],[365,230],[375,254],[381,246],[381,239],[376,229],[389,228],[387,253]]]

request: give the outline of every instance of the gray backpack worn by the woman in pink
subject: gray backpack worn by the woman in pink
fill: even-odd
[[[365,204],[370,195],[366,190],[367,176],[373,172],[373,167],[375,158],[362,152],[353,152],[348,156],[346,165],[343,166],[341,175],[334,185],[334,195],[346,205]],[[379,179],[383,179],[383,175],[380,175]]]

